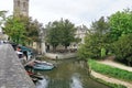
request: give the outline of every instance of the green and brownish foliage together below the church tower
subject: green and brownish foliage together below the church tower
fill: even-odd
[[[42,24],[28,16],[9,16],[6,22],[4,31],[10,38],[18,44],[28,44],[38,41],[38,30]]]

